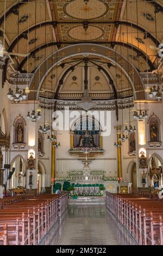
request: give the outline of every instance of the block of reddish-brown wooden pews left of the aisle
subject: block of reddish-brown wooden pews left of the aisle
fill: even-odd
[[[67,209],[68,194],[0,200],[0,245],[37,245]]]

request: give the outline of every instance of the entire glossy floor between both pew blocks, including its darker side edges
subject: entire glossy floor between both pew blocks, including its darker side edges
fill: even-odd
[[[105,205],[70,205],[41,245],[131,245],[133,239]]]

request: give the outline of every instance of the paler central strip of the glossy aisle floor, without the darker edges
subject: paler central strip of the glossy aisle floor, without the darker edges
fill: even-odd
[[[119,245],[105,205],[71,205],[58,245]]]

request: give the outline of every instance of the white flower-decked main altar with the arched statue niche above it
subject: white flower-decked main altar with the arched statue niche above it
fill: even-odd
[[[102,130],[88,115],[80,117],[70,131],[70,150],[68,153],[83,163],[82,170],[69,170],[67,176],[55,177],[55,184],[65,182],[71,187],[71,194],[76,196],[104,196],[111,193],[131,193],[131,183],[123,181],[121,176],[109,176],[105,170],[92,170],[90,163],[105,153],[103,149]]]

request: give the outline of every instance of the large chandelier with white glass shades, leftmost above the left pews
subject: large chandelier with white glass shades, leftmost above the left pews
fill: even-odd
[[[26,89],[23,89],[23,92],[16,86],[16,90],[15,93],[13,92],[13,90],[11,90],[11,88],[9,88],[9,92],[7,94],[8,99],[10,101],[14,101],[15,103],[18,103],[22,100],[26,100],[27,99],[27,94],[26,94]]]

